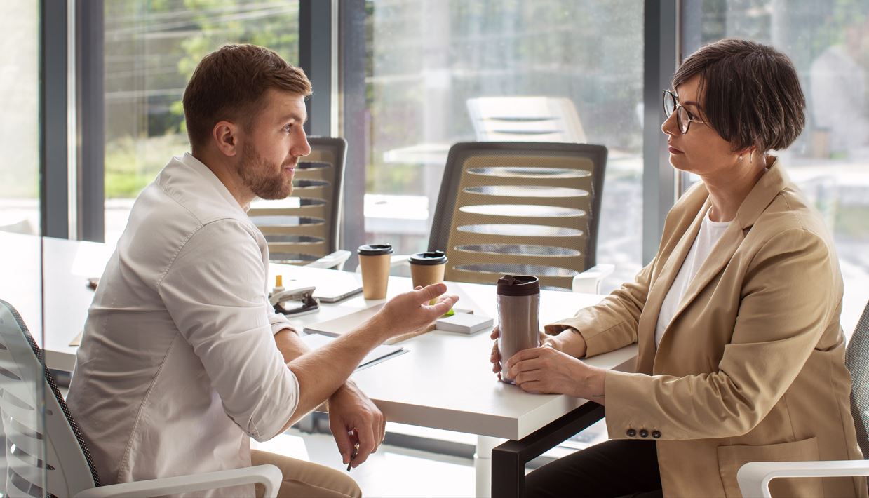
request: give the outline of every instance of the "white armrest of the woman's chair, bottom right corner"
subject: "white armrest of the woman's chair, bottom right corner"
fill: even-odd
[[[770,498],[769,481],[776,477],[847,477],[869,475],[869,461],[749,461],[736,473],[745,498]]]

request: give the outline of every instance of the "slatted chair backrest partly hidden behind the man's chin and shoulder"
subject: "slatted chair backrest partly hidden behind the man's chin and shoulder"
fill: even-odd
[[[338,249],[347,141],[310,136],[308,143],[311,153],[295,169],[293,195],[257,201],[248,211],[275,262],[306,264]]]

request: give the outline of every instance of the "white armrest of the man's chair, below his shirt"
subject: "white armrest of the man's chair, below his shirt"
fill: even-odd
[[[257,465],[248,468],[233,468],[219,470],[205,474],[179,475],[177,477],[164,477],[162,479],[149,479],[148,481],[123,482],[110,484],[99,488],[84,489],[76,494],[76,498],[110,498],[114,496],[136,496],[147,498],[149,496],[176,495],[190,493],[204,489],[226,488],[241,484],[261,483],[265,488],[265,495],[277,496],[278,488],[281,487],[283,475],[281,469],[274,465]]]

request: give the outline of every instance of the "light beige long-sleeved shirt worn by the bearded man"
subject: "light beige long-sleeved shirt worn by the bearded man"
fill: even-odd
[[[289,323],[269,306],[268,265],[260,231],[189,154],[136,199],[68,400],[103,483],[249,466],[249,437],[289,420],[299,384],[272,337]]]

